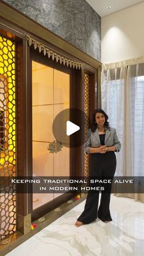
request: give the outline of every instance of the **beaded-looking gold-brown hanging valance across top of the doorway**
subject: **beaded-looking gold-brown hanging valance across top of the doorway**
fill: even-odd
[[[46,45],[43,45],[43,43],[38,42],[29,35],[26,35],[26,39],[27,42],[29,43],[29,46],[34,45],[35,50],[38,48],[39,52],[43,51],[43,54],[47,55],[48,58],[52,58],[52,61],[56,59],[56,62],[59,61],[60,64],[63,64],[63,66],[67,65],[67,67],[73,67],[73,69],[82,68],[82,63],[73,61],[69,58],[65,58],[64,55],[61,55],[60,53],[57,53],[56,51],[48,48]]]

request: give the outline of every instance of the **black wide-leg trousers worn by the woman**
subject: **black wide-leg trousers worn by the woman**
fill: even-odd
[[[108,180],[112,181],[116,165],[117,160],[115,152],[110,151],[104,154],[94,153],[90,155],[90,179],[99,179],[101,181],[106,181],[107,179],[107,183],[91,184],[92,187],[104,187],[104,190],[101,190],[101,203],[99,208],[99,190],[95,190],[95,192],[91,190],[88,191],[84,211],[77,219],[83,224],[88,224],[97,217],[103,222],[112,220],[109,210],[112,182],[109,183]]]

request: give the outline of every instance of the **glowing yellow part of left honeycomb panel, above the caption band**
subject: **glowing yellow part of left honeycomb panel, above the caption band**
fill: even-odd
[[[0,165],[4,167],[15,165],[15,44],[0,37],[0,49],[0,111],[4,111]]]

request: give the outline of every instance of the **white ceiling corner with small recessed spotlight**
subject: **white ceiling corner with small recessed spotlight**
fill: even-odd
[[[117,12],[118,10],[143,2],[142,0],[86,0],[90,6],[101,16],[104,17],[110,13]],[[111,6],[111,9],[106,9]]]

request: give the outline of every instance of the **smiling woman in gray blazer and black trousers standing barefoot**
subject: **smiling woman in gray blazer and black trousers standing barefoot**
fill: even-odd
[[[117,165],[115,151],[119,152],[121,148],[116,129],[109,126],[107,119],[107,114],[101,108],[93,111],[92,133],[84,145],[85,152],[90,154],[90,176],[102,181],[106,178],[113,179]],[[112,220],[109,210],[112,183],[103,186],[99,209],[99,191],[88,191],[85,208],[75,223],[76,227],[88,224],[97,217],[105,223]]]

